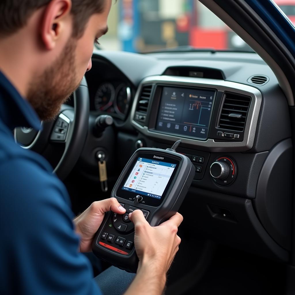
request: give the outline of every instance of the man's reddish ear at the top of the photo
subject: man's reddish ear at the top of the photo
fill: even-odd
[[[67,22],[71,21],[71,0],[52,0],[46,6],[41,21],[41,39],[47,50],[51,50],[62,33],[67,30]],[[68,26],[68,28],[72,28]]]

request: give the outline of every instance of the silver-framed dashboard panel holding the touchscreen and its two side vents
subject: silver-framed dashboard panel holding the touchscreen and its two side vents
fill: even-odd
[[[152,76],[135,96],[131,123],[155,140],[181,138],[191,148],[252,148],[261,105],[258,89],[217,79]]]

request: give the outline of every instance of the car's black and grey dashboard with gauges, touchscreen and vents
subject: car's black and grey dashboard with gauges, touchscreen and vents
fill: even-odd
[[[81,173],[97,181],[95,155],[103,151],[116,179],[137,148],[180,139],[178,152],[196,168],[180,210],[189,234],[288,261],[290,117],[266,63],[256,53],[99,50],[92,64],[90,126],[101,114],[114,126],[99,138],[89,127]]]

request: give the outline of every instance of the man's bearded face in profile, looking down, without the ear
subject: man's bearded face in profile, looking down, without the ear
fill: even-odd
[[[60,56],[30,84],[27,99],[41,120],[51,120],[58,115],[61,105],[78,88],[85,72],[91,69],[94,41],[107,30],[112,0],[105,2],[104,12],[90,17],[82,37],[70,37]]]

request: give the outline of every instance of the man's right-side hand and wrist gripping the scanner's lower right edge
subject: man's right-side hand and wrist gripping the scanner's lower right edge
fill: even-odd
[[[181,242],[177,230],[183,217],[176,213],[156,227],[150,226],[140,210],[130,213],[129,219],[135,226],[134,244],[139,264],[137,276],[125,294],[162,294],[166,273]]]

